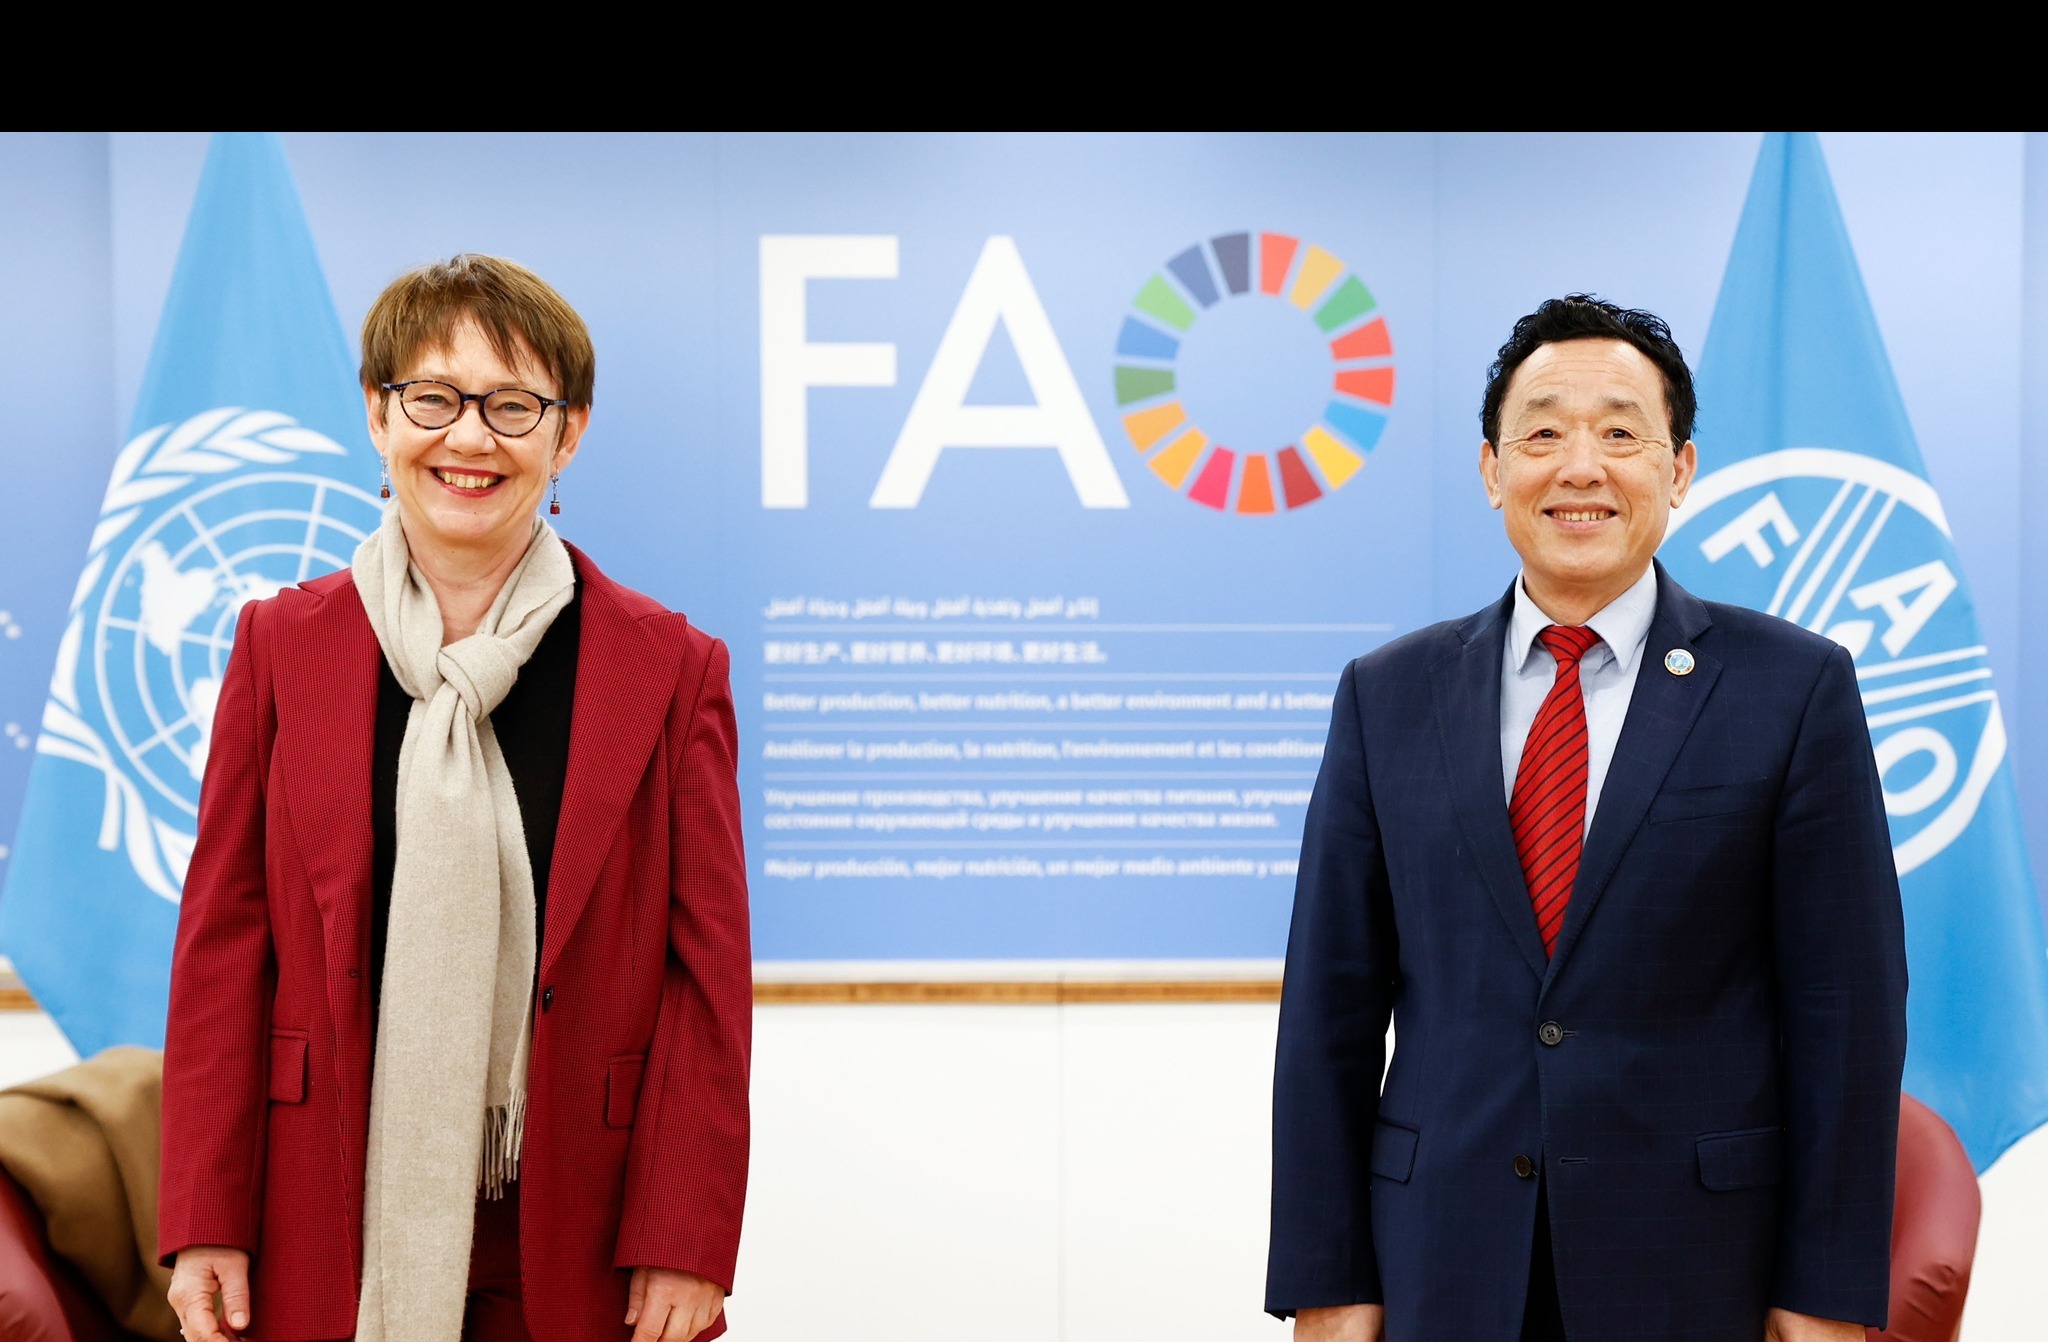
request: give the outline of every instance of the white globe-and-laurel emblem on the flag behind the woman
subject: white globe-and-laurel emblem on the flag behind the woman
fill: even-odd
[[[100,770],[98,846],[176,901],[213,709],[244,602],[344,568],[381,504],[285,469],[346,449],[287,414],[227,406],[160,424],[115,461],[72,596],[37,750]]]

